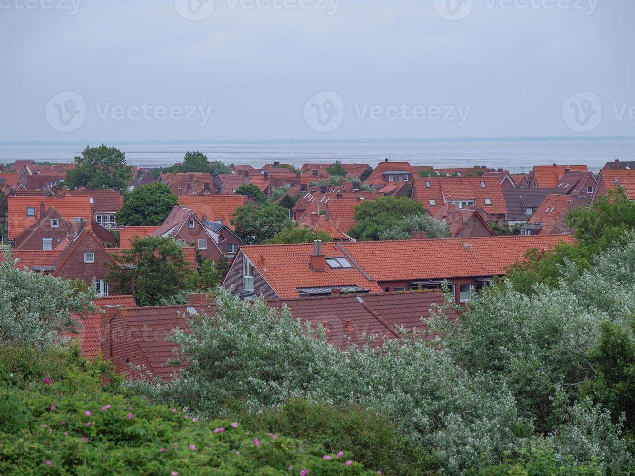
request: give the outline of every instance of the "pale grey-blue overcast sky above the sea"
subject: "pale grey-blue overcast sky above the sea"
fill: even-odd
[[[635,136],[633,0],[473,1],[0,0],[0,141]]]

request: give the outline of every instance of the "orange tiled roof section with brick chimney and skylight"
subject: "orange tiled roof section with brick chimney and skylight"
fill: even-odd
[[[354,265],[345,269],[331,269],[326,265],[324,271],[312,270],[312,243],[243,246],[239,255],[241,253],[281,298],[297,298],[297,288],[316,286],[356,285],[369,289],[371,293],[382,292],[377,283],[365,277]],[[322,253],[326,258],[345,256],[335,243],[323,243]],[[234,263],[236,258],[232,266]]]

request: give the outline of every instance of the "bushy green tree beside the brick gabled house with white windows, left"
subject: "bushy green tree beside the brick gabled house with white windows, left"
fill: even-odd
[[[184,289],[191,289],[192,268],[183,248],[172,237],[135,237],[130,249],[113,253],[108,281],[122,294],[132,294],[141,306],[154,306]]]

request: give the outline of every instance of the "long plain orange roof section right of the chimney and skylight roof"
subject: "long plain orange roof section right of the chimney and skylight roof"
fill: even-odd
[[[413,281],[505,275],[505,267],[533,248],[573,243],[571,235],[500,236],[341,243],[375,281]]]

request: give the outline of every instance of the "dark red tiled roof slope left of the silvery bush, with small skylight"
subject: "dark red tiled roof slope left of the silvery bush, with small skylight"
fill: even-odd
[[[168,367],[166,363],[175,358],[173,350],[178,346],[166,341],[173,329],[177,327],[189,331],[187,319],[181,315],[210,314],[213,307],[208,305],[183,304],[175,306],[134,307],[122,308],[115,315],[128,324],[130,338],[138,343],[139,349],[147,359],[150,368],[158,378],[170,380],[171,374],[186,364],[182,362],[179,367]],[[122,352],[116,350],[115,352]]]

